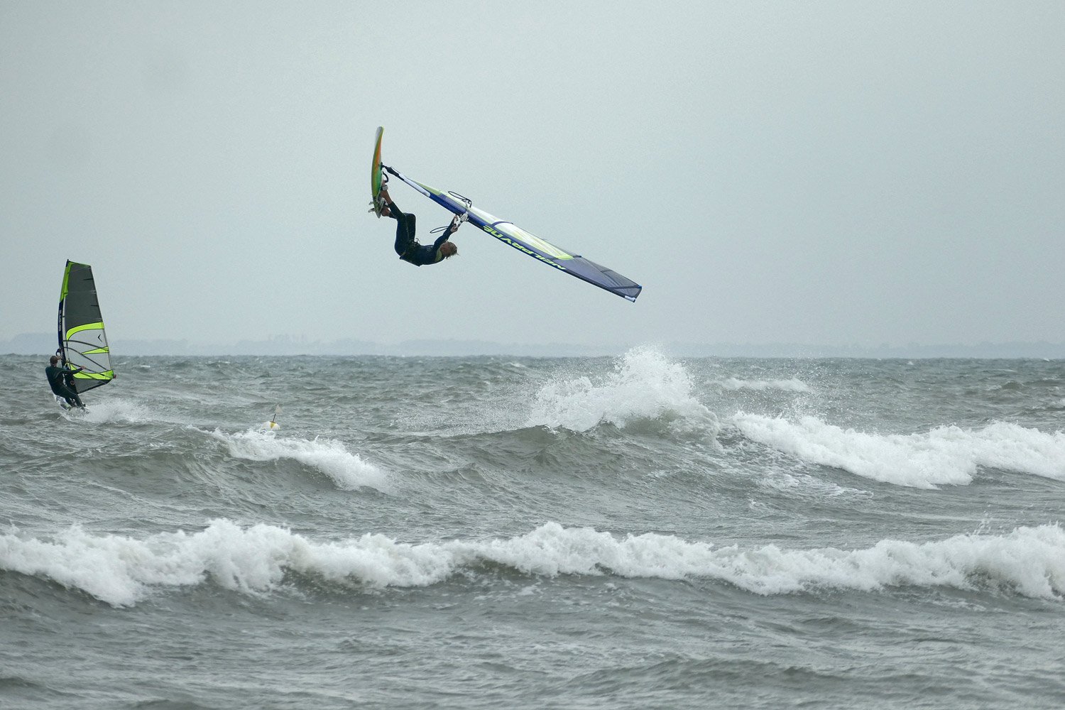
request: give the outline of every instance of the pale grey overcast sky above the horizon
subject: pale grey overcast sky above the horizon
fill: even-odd
[[[0,339],[1061,342],[1065,2],[0,2]],[[472,227],[402,263],[388,164]],[[448,214],[404,185],[423,243]]]

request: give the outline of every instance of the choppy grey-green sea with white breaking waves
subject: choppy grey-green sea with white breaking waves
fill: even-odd
[[[0,363],[5,710],[1065,707],[1065,361]]]

